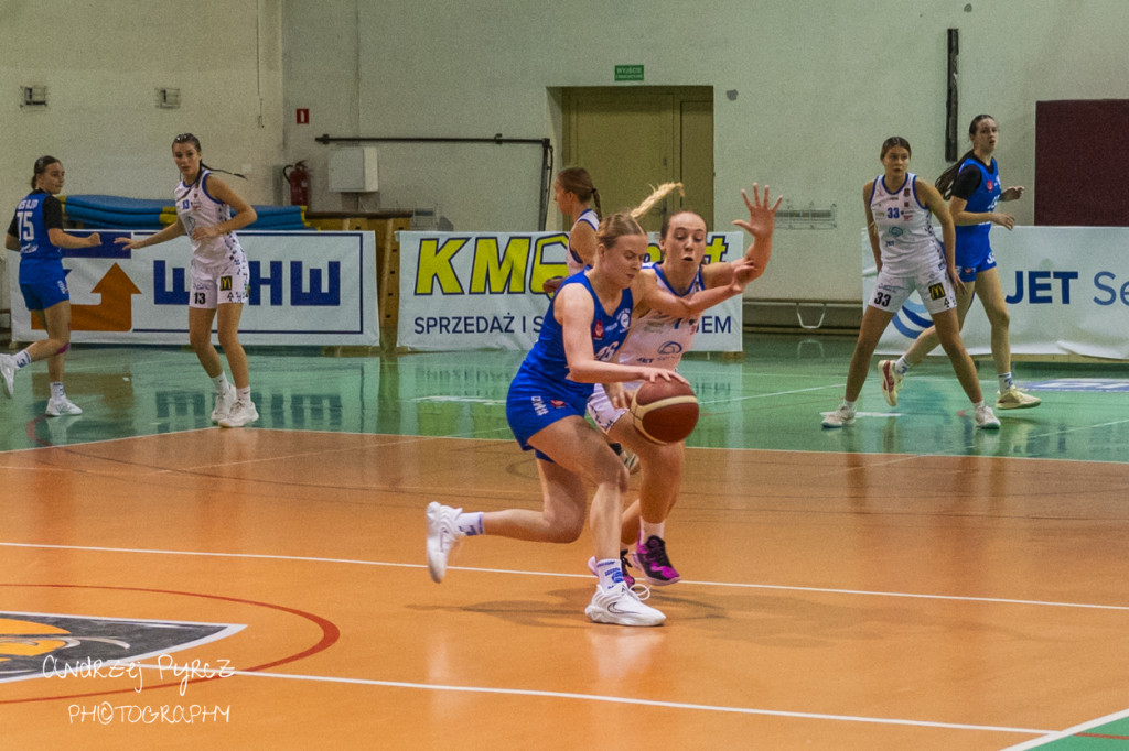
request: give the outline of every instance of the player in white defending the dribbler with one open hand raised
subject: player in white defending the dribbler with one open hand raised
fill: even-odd
[[[762,196],[755,184],[752,201],[744,191],[742,195],[749,207],[749,220],[738,220],[734,224],[754,238],[743,257],[732,263],[702,265],[706,220],[692,211],[680,211],[663,223],[658,241],[663,259],[644,267],[641,275],[647,284],[684,298],[701,290],[728,286],[736,270],[744,266],[755,268],[752,279],[763,274],[772,251],[772,230],[780,198],[770,206],[768,186]],[[675,370],[682,354],[693,345],[699,318],[677,318],[649,309],[645,303],[637,304],[631,332],[620,351],[620,363]],[[621,520],[620,559],[623,573],[630,577],[630,565],[637,567],[648,583],[665,585],[680,578],[666,554],[665,524],[679,495],[685,443],[658,444],[634,427],[627,413],[633,391],[641,385],[641,381],[597,385],[588,400],[588,414],[610,441],[631,449],[639,457],[642,468],[639,498],[624,510]],[[589,562],[589,567],[594,563]]]

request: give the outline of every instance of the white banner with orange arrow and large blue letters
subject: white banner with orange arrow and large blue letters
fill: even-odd
[[[89,232],[73,231],[75,235]],[[63,251],[71,297],[71,338],[114,344],[189,341],[192,248],[186,237],[124,250],[115,237],[151,232],[102,231],[102,245]],[[247,254],[251,297],[239,341],[269,345],[379,344],[376,242],[371,232],[239,232]],[[12,337],[46,336],[33,323],[18,272],[11,273]]]

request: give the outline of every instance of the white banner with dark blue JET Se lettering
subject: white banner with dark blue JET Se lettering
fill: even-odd
[[[991,245],[1012,317],[1013,354],[1129,359],[1129,228],[994,227]],[[876,276],[866,230],[863,268],[866,304]],[[914,293],[877,353],[904,351],[930,323]],[[971,354],[990,354],[990,333],[983,307],[973,300],[961,333],[964,346]]]

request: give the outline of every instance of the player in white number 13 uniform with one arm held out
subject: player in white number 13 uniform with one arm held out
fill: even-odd
[[[174,195],[176,221],[145,238],[119,238],[131,250],[182,235],[192,241],[192,282],[189,293],[189,341],[216,388],[211,419],[224,427],[242,427],[259,419],[251,399],[247,355],[239,344],[239,317],[247,299],[247,256],[235,231],[255,221],[255,210],[201,161],[200,141],[191,133],[173,140],[173,159],[181,171]],[[234,212],[234,214],[233,214]],[[231,386],[211,341],[218,319],[219,343],[231,368]]]

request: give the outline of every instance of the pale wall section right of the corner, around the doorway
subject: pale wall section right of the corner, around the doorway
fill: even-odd
[[[315,115],[305,129],[289,115],[287,148],[312,158],[315,174],[322,133],[551,136],[559,158],[546,90],[614,85],[616,63],[642,63],[646,85],[712,86],[718,227],[741,214],[739,191],[753,180],[797,207],[838,210],[835,230],[779,232],[756,284],[765,298],[860,299],[860,193],[881,169],[882,141],[908,138],[929,179],[946,166],[948,28],[961,30],[962,151],[971,118],[994,114],[1005,180],[1029,188],[1008,205],[1021,223],[1033,220],[1038,189],[1035,103],[1129,97],[1114,72],[1129,56],[1123,0],[286,0],[285,16],[285,106]],[[531,229],[536,184],[519,173],[532,156],[380,150],[378,203],[361,205],[415,201],[438,204],[456,229]],[[322,202],[342,205],[315,185]]]

